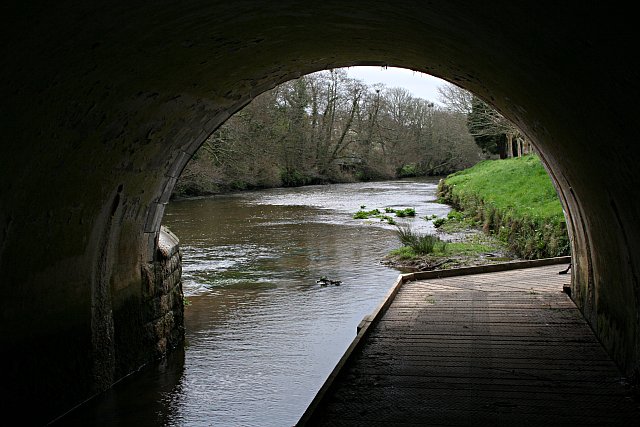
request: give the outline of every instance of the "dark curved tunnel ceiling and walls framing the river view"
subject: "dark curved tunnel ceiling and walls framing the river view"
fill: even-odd
[[[27,399],[53,416],[148,361],[132,313],[190,155],[261,92],[350,65],[444,78],[525,131],[568,214],[573,298],[638,372],[630,14],[582,2],[111,3],[3,6],[7,408]]]

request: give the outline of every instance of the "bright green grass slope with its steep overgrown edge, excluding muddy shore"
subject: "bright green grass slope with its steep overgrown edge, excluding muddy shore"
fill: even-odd
[[[536,155],[487,160],[442,180],[438,197],[524,259],[569,254],[562,206]]]

